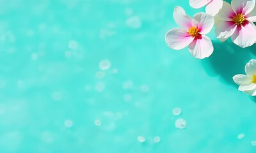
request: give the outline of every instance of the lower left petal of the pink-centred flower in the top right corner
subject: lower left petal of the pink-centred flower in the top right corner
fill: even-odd
[[[215,34],[219,40],[227,40],[236,31],[237,25],[232,21],[220,20],[215,24]]]

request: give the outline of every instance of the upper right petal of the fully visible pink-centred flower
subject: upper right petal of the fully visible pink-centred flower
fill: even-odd
[[[196,13],[193,17],[193,24],[199,29],[200,34],[207,34],[214,25],[214,18],[207,13]]]

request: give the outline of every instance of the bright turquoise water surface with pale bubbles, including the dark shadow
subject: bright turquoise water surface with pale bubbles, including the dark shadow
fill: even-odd
[[[168,48],[177,5],[204,11],[173,0],[1,0],[0,152],[256,152],[256,100],[232,81],[256,45],[212,31],[207,59]]]

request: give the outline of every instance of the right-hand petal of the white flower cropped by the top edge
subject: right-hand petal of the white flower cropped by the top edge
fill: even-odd
[[[214,0],[207,4],[205,12],[215,16],[222,8],[223,0]]]

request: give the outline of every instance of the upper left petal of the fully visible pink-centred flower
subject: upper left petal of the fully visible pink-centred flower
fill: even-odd
[[[189,15],[186,15],[186,11],[179,6],[174,8],[173,18],[175,22],[185,30],[192,27],[192,18],[189,17]]]

